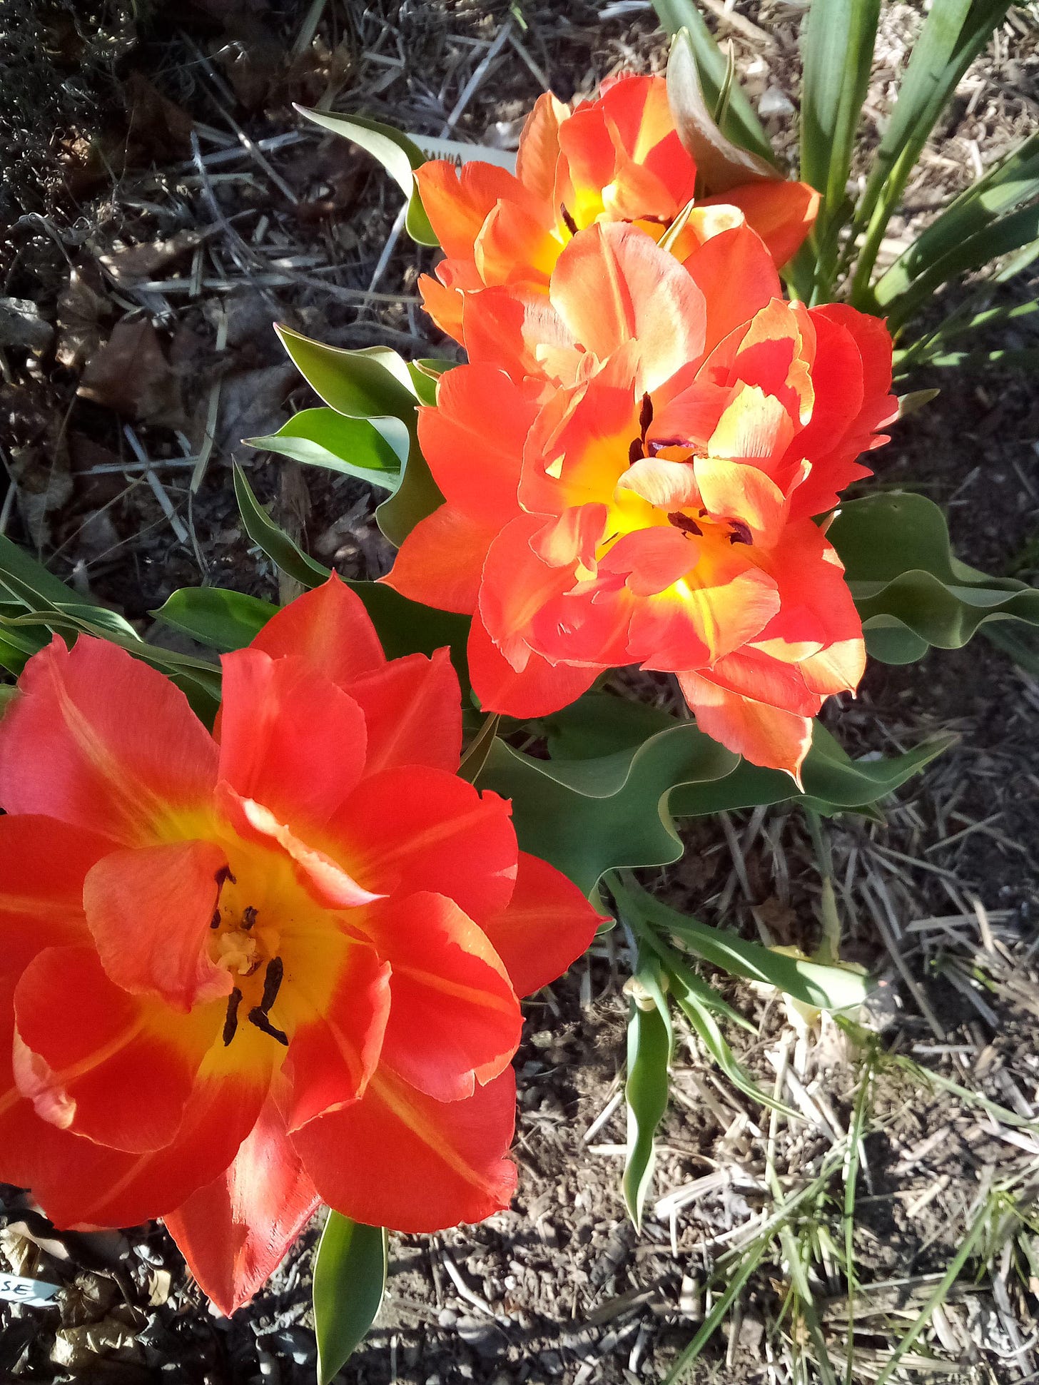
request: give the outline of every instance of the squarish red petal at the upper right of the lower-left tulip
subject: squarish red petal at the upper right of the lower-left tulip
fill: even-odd
[[[409,654],[350,684],[364,712],[368,752],[364,774],[398,765],[428,765],[454,773],[461,756],[461,691],[449,650],[432,658]]]

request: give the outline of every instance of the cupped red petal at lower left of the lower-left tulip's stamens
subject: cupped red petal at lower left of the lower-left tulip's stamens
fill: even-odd
[[[116,1150],[169,1144],[219,1006],[175,1015],[112,985],[93,947],[69,946],[29,963],[14,1007],[18,1087],[44,1119]]]

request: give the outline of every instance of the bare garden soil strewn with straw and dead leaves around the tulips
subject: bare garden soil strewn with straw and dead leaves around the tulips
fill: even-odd
[[[790,154],[803,7],[709,8]],[[887,7],[870,138],[917,25],[917,7]],[[891,229],[892,253],[907,226],[1035,127],[1038,40],[1033,8],[1015,8],[967,73]],[[0,457],[12,486],[0,528],[85,597],[170,641],[151,612],[179,586],[294,594],[242,536],[234,460],[317,558],[348,576],[381,575],[391,554],[363,485],[241,442],[309,402],[276,320],[407,356],[450,348],[416,295],[429,252],[396,240],[382,256],[396,190],[363,155],[303,127],[291,102],[514,148],[546,84],[568,98],[664,60],[641,0],[0,4]],[[1024,301],[1032,287],[1000,294]],[[985,345],[1036,342],[1025,321],[1013,341]],[[1032,579],[1031,379],[949,370],[912,384],[927,386],[941,395],[896,427],[867,485],[923,490],[948,507],[960,557]],[[662,680],[641,691],[672,695]],[[628,954],[610,935],[526,1006],[514,1208],[478,1227],[391,1238],[387,1299],[345,1381],[661,1379],[712,1312],[719,1259],[752,1242],[774,1186],[794,1195],[809,1184],[817,1197],[798,1230],[822,1246],[812,1270],[822,1330],[840,1364],[852,1319],[855,1378],[876,1379],[986,1190],[1017,1177],[1032,1216],[1039,683],[979,636],[907,669],[874,665],[859,699],[828,717],[853,753],[959,734],[882,821],[827,824],[844,954],[880,978],[859,1017],[864,1040],[826,1021],[795,1028],[774,994],[712,976],[754,1025],[727,1030],[737,1057],[785,1100],[799,1090],[801,1118],[772,1119],[683,1035],[636,1233],[619,1188]],[[683,861],[647,885],[708,922],[812,950],[823,885],[798,813],[693,821],[686,838]],[[827,1237],[842,1245],[845,1234],[842,1169],[827,1155],[863,1083],[849,1305],[823,1253]],[[227,1321],[206,1309],[161,1226],[57,1233],[28,1195],[0,1188],[0,1270],[62,1285],[53,1307],[0,1305],[0,1381],[309,1382],[316,1235],[309,1228]],[[977,1283],[953,1285],[906,1356],[913,1370],[1036,1378],[1029,1244],[1025,1227]],[[790,1379],[791,1349],[810,1357],[812,1348],[784,1317],[787,1292],[769,1252],[689,1379]]]

